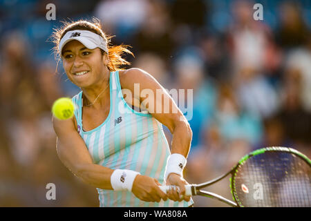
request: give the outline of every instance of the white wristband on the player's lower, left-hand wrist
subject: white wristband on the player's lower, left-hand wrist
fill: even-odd
[[[111,174],[110,181],[115,191],[132,191],[135,177],[140,174],[136,171],[115,169]]]

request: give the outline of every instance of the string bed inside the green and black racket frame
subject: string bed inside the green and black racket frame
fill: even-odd
[[[310,165],[287,152],[265,152],[238,167],[234,195],[243,206],[311,206]]]

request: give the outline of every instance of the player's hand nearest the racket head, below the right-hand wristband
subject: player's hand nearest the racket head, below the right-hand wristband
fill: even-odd
[[[170,173],[167,177],[166,185],[170,186],[179,186],[179,191],[170,189],[167,191],[167,197],[173,201],[182,201],[185,200],[189,202],[191,196],[185,195],[185,185],[189,184],[183,177],[176,173]]]

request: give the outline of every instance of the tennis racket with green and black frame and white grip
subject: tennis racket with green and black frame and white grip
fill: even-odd
[[[234,202],[202,190],[231,175]],[[176,186],[160,186],[167,190]],[[224,175],[186,186],[186,195],[202,195],[238,207],[310,207],[311,160],[287,147],[267,147],[249,153]]]

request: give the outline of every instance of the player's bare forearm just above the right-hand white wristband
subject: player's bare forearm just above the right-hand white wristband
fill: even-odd
[[[171,153],[180,153],[187,158],[192,140],[192,131],[189,123],[178,122],[173,130],[173,140],[171,142]]]

